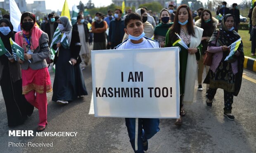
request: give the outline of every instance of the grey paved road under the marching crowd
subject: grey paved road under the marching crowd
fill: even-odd
[[[51,78],[53,82],[54,74]],[[48,99],[48,125],[45,132],[78,132],[76,137],[9,137],[8,130],[36,131],[38,110],[24,125],[7,127],[5,104],[0,97],[1,153],[132,153],[124,118],[95,118],[89,114],[92,95],[90,65],[83,70],[89,95],[65,106]],[[256,73],[244,71],[256,80]],[[243,79],[238,97],[234,98],[232,113],[235,121],[223,116],[223,91],[217,90],[213,107],[205,104],[205,89],[197,91],[194,102],[185,104],[183,125],[176,127],[175,119],[161,119],[160,131],[149,140],[147,153],[256,153],[256,83]],[[205,87],[205,86],[204,86]],[[50,143],[49,147],[14,147],[15,143]]]

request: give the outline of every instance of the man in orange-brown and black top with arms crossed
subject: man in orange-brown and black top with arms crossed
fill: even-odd
[[[107,22],[102,20],[102,14],[95,14],[95,21],[92,22],[93,35],[93,50],[106,49],[105,32],[107,30]]]

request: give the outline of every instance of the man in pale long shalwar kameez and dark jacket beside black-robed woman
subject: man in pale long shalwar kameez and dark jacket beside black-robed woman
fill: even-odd
[[[81,49],[79,55],[81,56],[82,63],[81,69],[85,68],[85,65],[88,65],[90,60],[90,48],[89,48],[89,29],[87,26],[87,22],[83,19],[83,15],[77,16],[77,22],[73,25],[73,30],[77,30],[79,32],[79,38],[81,43]]]

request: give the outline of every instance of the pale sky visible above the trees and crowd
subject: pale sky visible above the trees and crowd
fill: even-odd
[[[4,0],[0,0],[2,2]],[[62,10],[62,7],[64,5],[65,0],[45,0],[46,9],[51,9],[52,11],[57,11],[59,9]],[[88,0],[81,0],[83,4],[86,4]],[[167,2],[168,0],[166,0]],[[177,0],[178,2],[179,0]],[[207,2],[208,0],[200,0],[201,2]],[[228,5],[232,5],[232,3],[239,4],[242,0],[225,0]],[[27,3],[33,3],[33,0],[26,0]],[[73,5],[78,5],[80,0],[67,0],[69,9],[72,9]],[[95,7],[104,7],[108,6],[112,3],[112,0],[92,0],[92,3],[94,3]]]

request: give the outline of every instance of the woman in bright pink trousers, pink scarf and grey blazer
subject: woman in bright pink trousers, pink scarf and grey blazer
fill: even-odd
[[[48,35],[36,26],[36,16],[31,12],[21,15],[22,30],[15,34],[15,42],[24,49],[21,63],[22,94],[39,111],[37,131],[47,125],[47,97],[52,91],[50,74],[45,58],[50,56]]]

